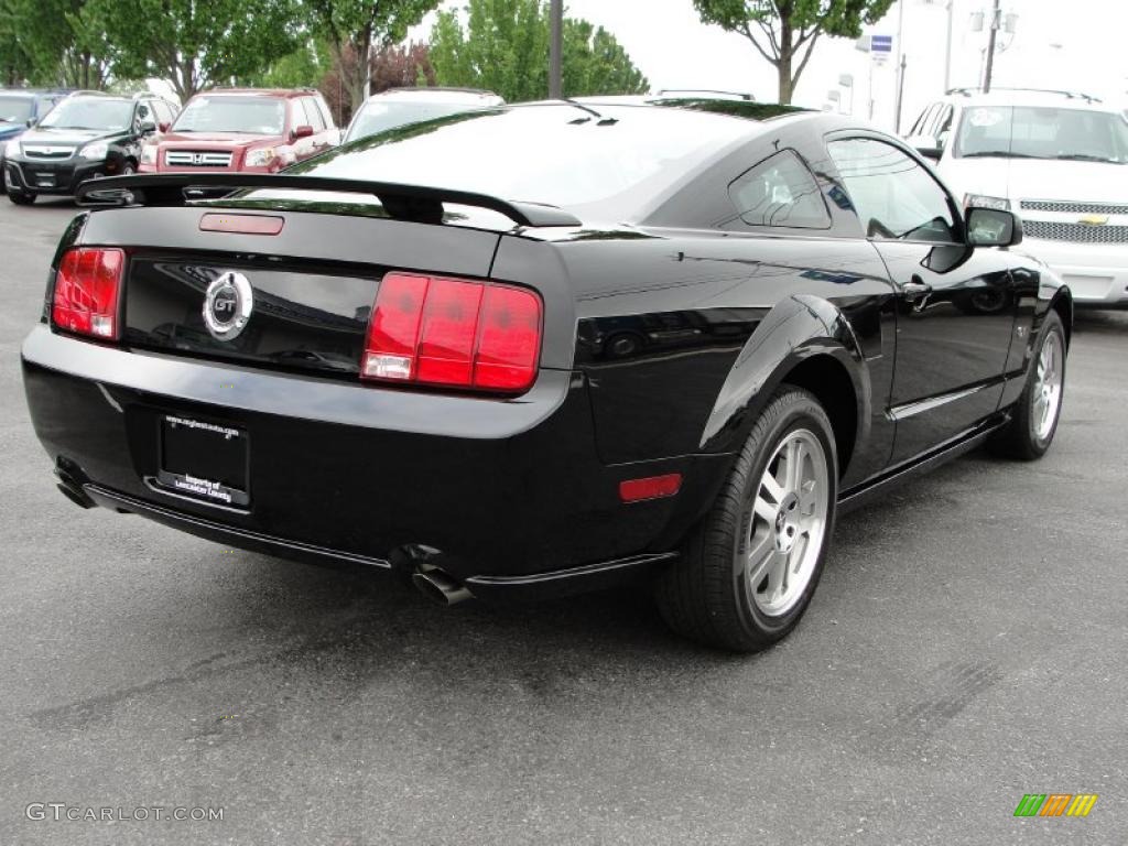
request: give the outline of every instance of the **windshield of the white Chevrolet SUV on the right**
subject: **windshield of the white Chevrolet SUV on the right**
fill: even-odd
[[[955,156],[1128,162],[1128,120],[1113,112],[976,106],[963,113]]]

